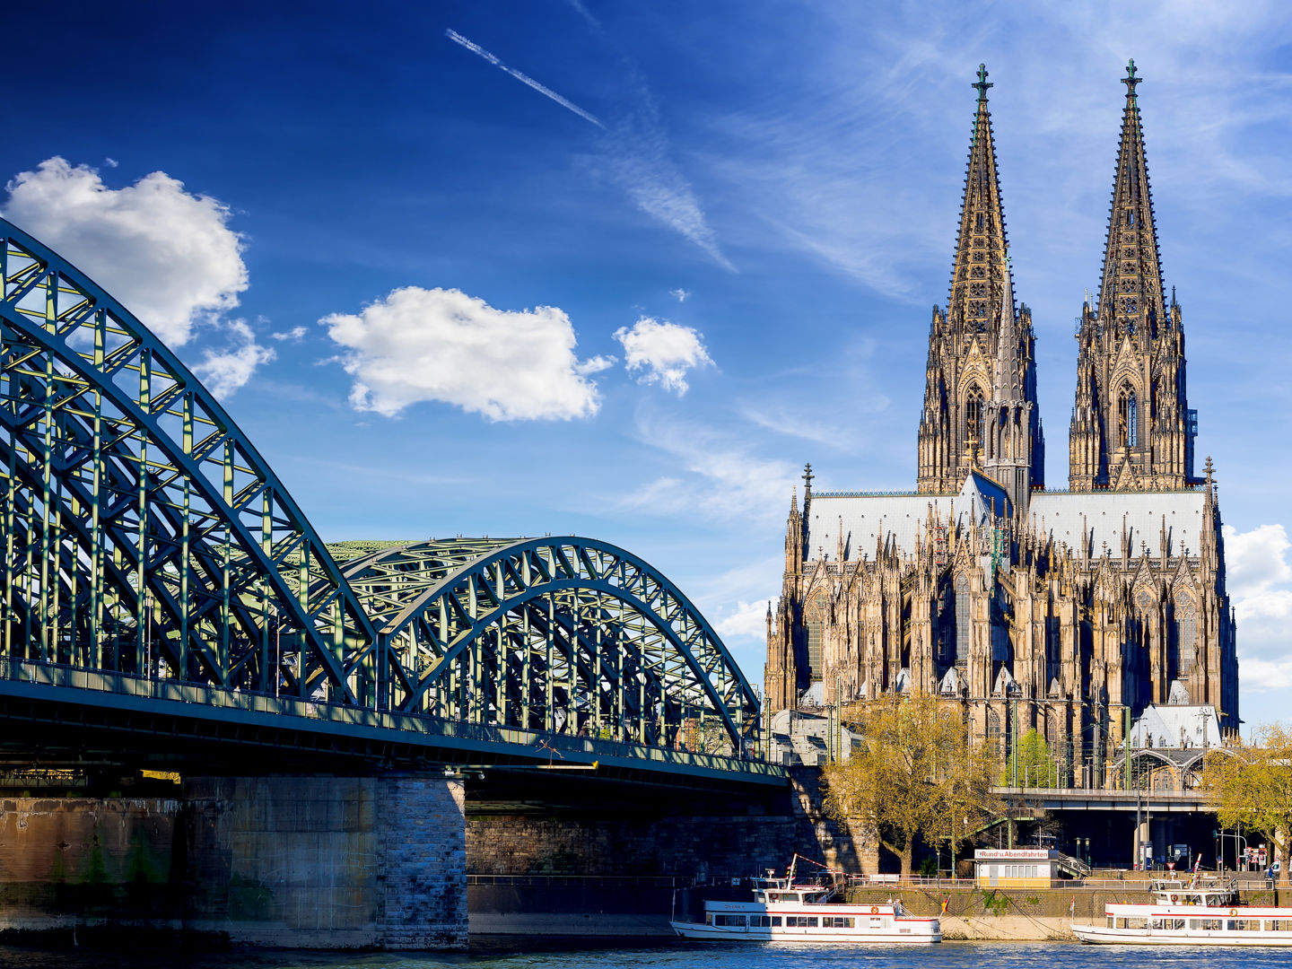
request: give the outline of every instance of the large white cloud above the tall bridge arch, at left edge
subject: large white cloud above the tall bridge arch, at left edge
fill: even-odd
[[[89,274],[171,346],[235,307],[247,288],[229,207],[165,172],[109,189],[93,168],[50,158],[5,187],[5,218]]]

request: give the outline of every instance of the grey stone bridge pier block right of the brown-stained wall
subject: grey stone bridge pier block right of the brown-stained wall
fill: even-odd
[[[460,780],[195,778],[183,811],[190,928],[310,948],[466,946]]]

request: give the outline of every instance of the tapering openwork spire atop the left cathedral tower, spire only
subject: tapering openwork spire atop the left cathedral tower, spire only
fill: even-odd
[[[978,109],[960,203],[947,320],[951,328],[986,332],[1000,324],[1003,293],[1008,286],[1001,273],[1008,243],[991,112],[987,111],[987,88],[992,85],[987,81],[986,65],[978,65],[978,80],[972,87],[978,89]]]

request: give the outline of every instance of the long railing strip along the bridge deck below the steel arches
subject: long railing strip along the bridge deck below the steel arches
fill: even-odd
[[[154,680],[133,673],[81,669],[63,663],[0,656],[0,677],[43,686],[93,690],[118,696],[200,704],[249,713],[302,717],[313,721],[327,721],[339,726],[401,730],[446,739],[508,744],[534,749],[534,758],[536,761],[552,760],[557,762],[566,760],[568,756],[571,762],[587,764],[594,760],[618,757],[651,761],[659,765],[707,767],[711,770],[769,776],[783,771],[783,767],[778,765],[752,757],[730,757],[718,753],[651,747],[625,740],[552,734],[543,730],[505,727],[492,724],[466,724],[425,713],[375,711],[329,703],[327,700],[304,700],[298,696],[274,696],[271,694],[236,689],[222,690],[203,683],[185,683],[164,678]]]

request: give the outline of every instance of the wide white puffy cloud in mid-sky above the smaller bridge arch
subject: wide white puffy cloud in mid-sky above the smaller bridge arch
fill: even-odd
[[[346,350],[350,403],[386,416],[439,401],[496,421],[587,417],[601,406],[587,377],[614,363],[580,360],[556,306],[497,310],[459,289],[404,287],[319,323]]]

